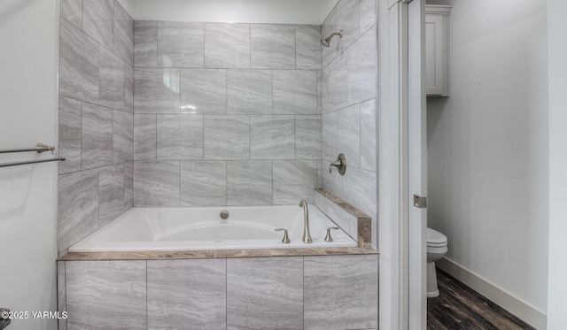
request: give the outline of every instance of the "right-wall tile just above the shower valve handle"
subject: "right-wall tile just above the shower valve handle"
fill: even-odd
[[[349,167],[361,166],[361,106],[337,111],[337,150],[345,154]]]

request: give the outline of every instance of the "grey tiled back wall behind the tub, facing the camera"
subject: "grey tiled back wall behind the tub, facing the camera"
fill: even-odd
[[[320,39],[320,26],[136,21],[134,204],[311,203]]]

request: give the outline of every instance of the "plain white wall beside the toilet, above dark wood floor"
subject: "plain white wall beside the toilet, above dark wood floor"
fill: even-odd
[[[548,292],[546,1],[454,2],[451,96],[428,102],[439,263],[534,326]]]

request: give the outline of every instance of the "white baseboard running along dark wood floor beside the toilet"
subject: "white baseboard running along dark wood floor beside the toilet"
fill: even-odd
[[[493,283],[482,279],[474,272],[470,272],[468,269],[462,267],[462,265],[458,265],[445,257],[436,262],[435,265],[455,279],[462,281],[462,283],[466,284],[469,288],[472,288],[479,294],[497,303],[506,311],[516,315],[517,318],[521,318],[530,326],[538,330],[547,329],[548,316],[529,303],[525,303],[514,295],[510,295]]]

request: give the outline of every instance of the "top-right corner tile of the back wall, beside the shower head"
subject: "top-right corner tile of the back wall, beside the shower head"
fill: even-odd
[[[321,69],[321,26],[295,27],[295,68]]]

